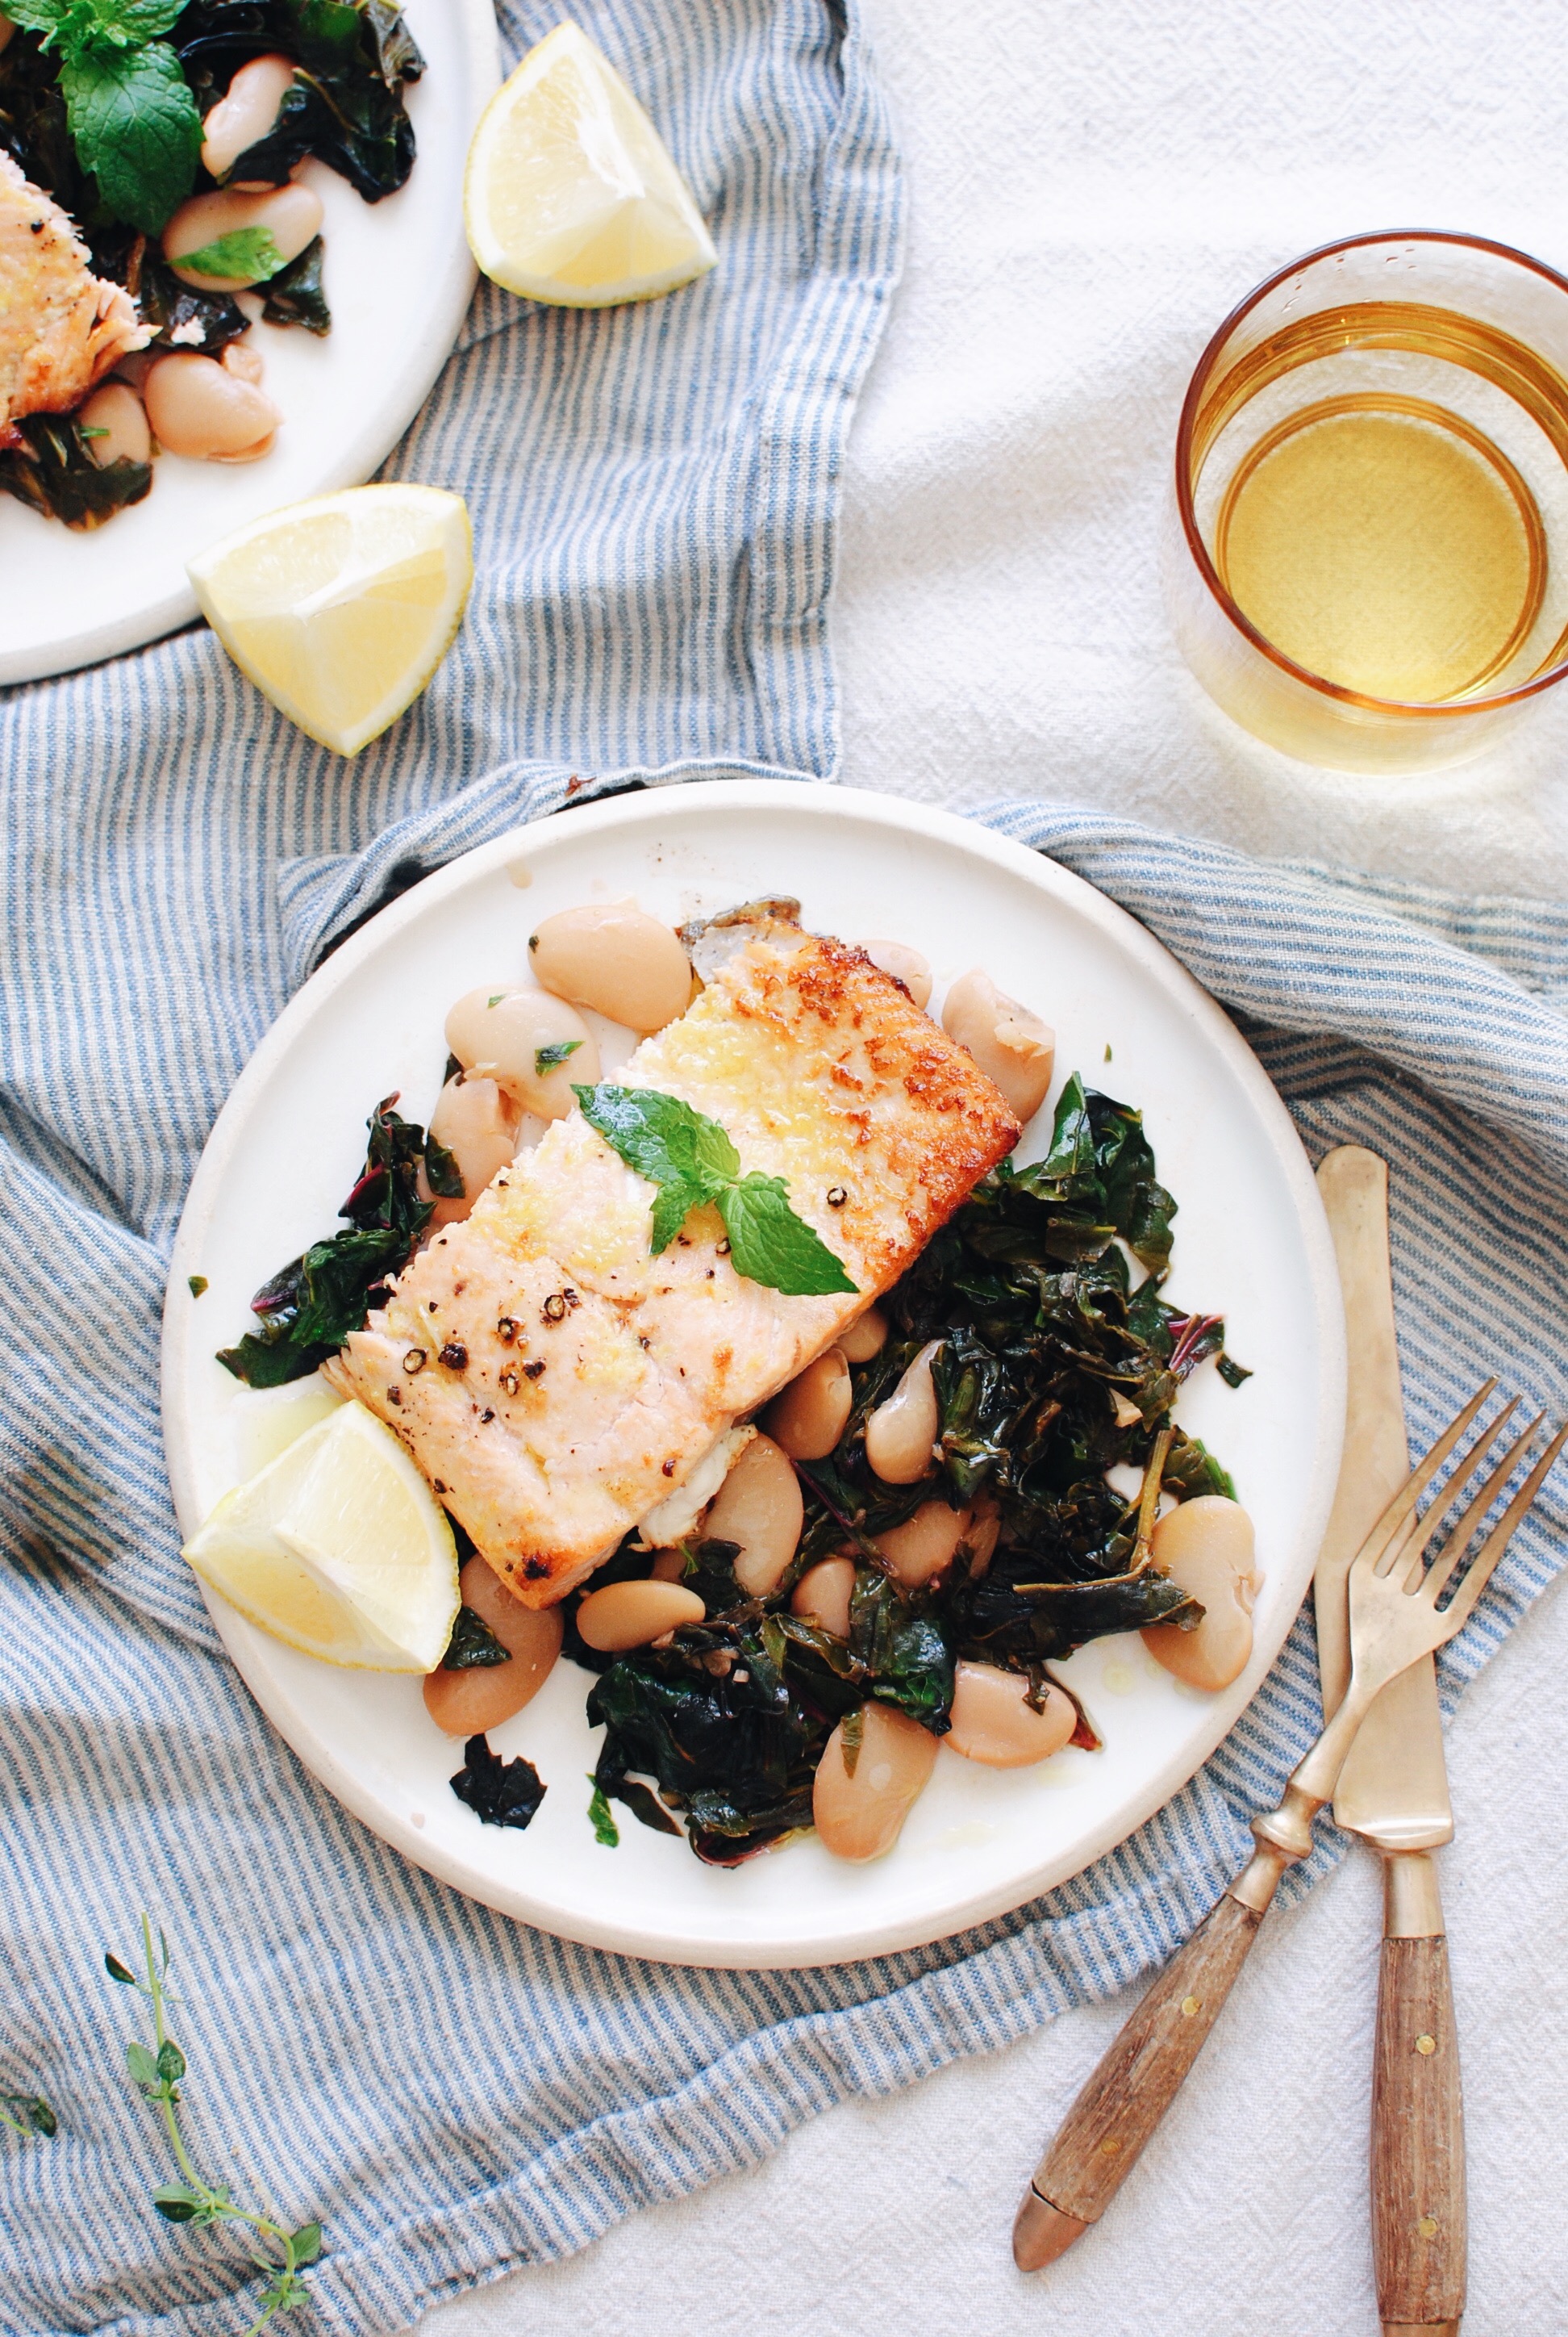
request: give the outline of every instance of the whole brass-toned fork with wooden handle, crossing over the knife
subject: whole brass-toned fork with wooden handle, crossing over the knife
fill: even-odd
[[[1253,1818],[1257,1842],[1253,1858],[1152,1984],[1035,2166],[1012,2227],[1012,2253],[1021,2272],[1038,2272],[1054,2262],[1103,2215],[1220,2017],[1257,1937],[1257,1926],[1274,1902],[1281,1874],[1311,1851],[1313,1818],[1334,1797],[1339,1769],[1372,1699],[1407,1664],[1451,1641],[1470,1617],[1519,1519],[1568,1442],[1568,1426],[1563,1426],[1456,1582],[1477,1526],[1535,1440],[1545,1419],[1540,1414],[1489,1470],[1442,1552],[1428,1566],[1425,1552],[1514,1416],[1517,1398],[1505,1405],[1491,1428],[1477,1435],[1423,1514],[1416,1514],[1416,1503],[1496,1386],[1496,1379],[1489,1379],[1444,1428],[1358,1549],[1351,1566],[1351,1687],[1346,1699],[1290,1776],[1281,1807]],[[1437,1601],[1453,1582],[1449,1603],[1439,1606]]]

